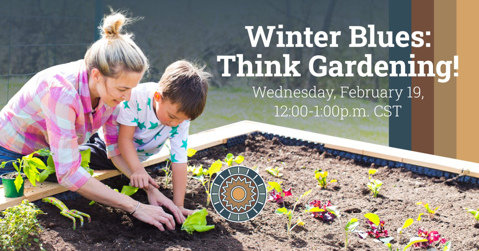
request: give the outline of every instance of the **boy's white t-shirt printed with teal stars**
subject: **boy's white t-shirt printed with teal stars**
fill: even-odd
[[[138,84],[132,89],[130,100],[116,106],[116,121],[122,125],[136,126],[133,145],[140,161],[159,153],[165,141],[170,139],[171,162],[186,163],[190,121],[185,120],[174,127],[162,125],[152,102],[157,89],[158,83]]]

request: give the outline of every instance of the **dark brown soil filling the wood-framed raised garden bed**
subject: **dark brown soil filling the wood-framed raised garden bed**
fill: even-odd
[[[353,160],[340,159],[316,149],[305,146],[287,146],[278,139],[265,140],[258,135],[246,140],[245,144],[229,149],[223,146],[211,148],[202,155],[195,155],[190,165],[203,164],[209,167],[215,160],[223,159],[228,153],[244,155],[242,165],[259,166],[259,173],[265,181],[283,181],[286,188],[292,187],[293,196],[286,197],[286,206],[291,207],[295,198],[303,192],[313,189],[297,208],[304,209],[306,203],[313,200],[330,200],[338,205],[342,212],[342,223],[338,220],[323,223],[317,218],[304,215],[303,227],[296,227],[288,236],[285,229],[285,216],[276,215],[279,207],[276,203],[266,203],[261,213],[253,220],[244,223],[229,222],[219,215],[210,205],[207,207],[208,225],[216,227],[208,232],[193,235],[180,230],[160,232],[157,228],[138,221],[125,211],[95,203],[89,206],[87,199],[66,201],[70,209],[77,209],[91,215],[91,223],[72,230],[72,222],[59,214],[57,207],[46,204],[41,209],[48,215],[40,215],[41,224],[46,228],[40,236],[47,250],[290,250],[302,248],[319,251],[343,249],[341,229],[349,219],[355,217],[361,222],[359,229],[366,229],[364,214],[375,213],[386,221],[386,229],[394,237],[394,246],[403,249],[405,243],[414,237],[418,227],[425,230],[437,230],[442,238],[452,241],[456,251],[477,251],[479,249],[479,224],[473,215],[466,213],[463,207],[479,207],[479,187],[471,184],[457,184],[455,181],[430,178],[408,171],[405,168],[377,167],[376,178],[384,182],[382,191],[373,198],[366,188],[367,170],[370,166],[355,163]],[[281,178],[268,174],[266,167],[283,167]],[[223,167],[224,168],[224,167]],[[328,190],[316,187],[314,170],[322,168],[330,172],[330,179],[338,179]],[[159,173],[156,180],[163,184],[164,174]],[[104,183],[120,189],[128,183],[125,177],[115,177]],[[168,189],[160,189],[172,198],[171,184]],[[145,192],[139,191],[132,196],[148,203]],[[432,206],[441,205],[437,214],[430,218],[423,215],[420,222],[407,228],[402,237],[396,233],[407,218],[417,218],[426,213],[416,202],[427,202]],[[203,208],[206,195],[203,186],[194,179],[188,180],[185,207]],[[79,224],[79,223],[77,223]],[[373,239],[350,237],[350,250],[370,251],[387,250],[387,247]],[[412,249],[411,249],[412,250]]]

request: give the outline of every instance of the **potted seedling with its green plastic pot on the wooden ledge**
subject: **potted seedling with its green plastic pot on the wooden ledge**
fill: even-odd
[[[34,157],[34,154],[51,156],[53,153],[46,149],[40,149],[30,155],[23,156],[22,159],[4,161],[1,163],[0,167],[3,168],[8,162],[11,162],[16,170],[1,175],[5,197],[14,198],[23,196],[23,188],[25,186],[25,182],[23,182],[24,179],[28,179],[33,186],[36,186],[36,181],[40,180],[40,172],[38,169],[44,170],[46,169],[46,165],[41,159]]]

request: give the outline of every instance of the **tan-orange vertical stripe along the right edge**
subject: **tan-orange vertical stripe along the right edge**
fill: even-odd
[[[478,9],[479,1],[457,1],[457,158],[474,162],[479,162]]]

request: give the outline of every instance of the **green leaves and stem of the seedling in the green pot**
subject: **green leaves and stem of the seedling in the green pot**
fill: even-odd
[[[8,162],[11,162],[11,164],[13,164],[13,167],[15,167],[15,170],[17,171],[17,177],[15,178],[14,184],[15,184],[15,188],[17,189],[17,192],[20,190],[23,184],[23,177],[21,175],[22,171],[26,175],[27,179],[30,180],[30,183],[32,183],[32,185],[36,187],[35,181],[40,180],[40,177],[39,177],[40,172],[38,171],[38,169],[42,169],[42,170],[46,169],[45,163],[43,163],[41,159],[34,157],[33,156],[34,154],[38,154],[40,156],[53,155],[52,152],[46,149],[40,149],[38,151],[33,152],[30,155],[23,156],[22,159],[3,161],[1,163],[1,166],[0,166],[1,168],[5,167],[5,164],[7,164]],[[18,165],[16,163],[18,163]]]

